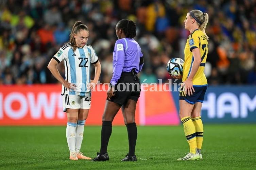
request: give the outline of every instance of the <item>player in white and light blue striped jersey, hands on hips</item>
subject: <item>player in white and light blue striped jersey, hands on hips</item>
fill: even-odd
[[[97,84],[101,65],[94,49],[86,45],[89,30],[81,21],[73,25],[69,43],[63,45],[51,59],[48,68],[62,83],[63,109],[67,112],[66,137],[70,160],[90,160],[80,152],[84,124],[91,104],[91,90]],[[57,64],[64,60],[66,79],[57,70]],[[90,80],[90,66],[95,66],[95,78]]]

